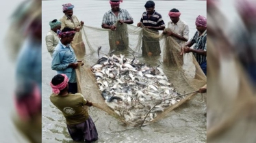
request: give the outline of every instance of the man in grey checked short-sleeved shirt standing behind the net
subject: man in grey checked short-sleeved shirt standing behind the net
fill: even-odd
[[[133,18],[129,12],[119,7],[120,2],[110,1],[111,10],[103,16],[103,29],[111,29],[109,32],[110,50],[125,50],[129,47],[129,36],[126,24],[133,24]],[[118,27],[118,28],[116,28]]]

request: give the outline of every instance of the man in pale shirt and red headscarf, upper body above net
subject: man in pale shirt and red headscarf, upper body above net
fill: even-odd
[[[168,36],[172,36],[180,46],[183,46],[185,42],[188,42],[190,29],[188,29],[188,25],[179,18],[179,16],[181,16],[181,12],[176,8],[170,10],[168,15],[171,20],[168,22],[168,29],[170,29],[170,31],[164,31],[163,33]]]

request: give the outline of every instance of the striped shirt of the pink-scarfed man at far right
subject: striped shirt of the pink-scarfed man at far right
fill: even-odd
[[[207,39],[207,30],[203,32],[203,34],[199,37],[199,31],[196,31],[194,34],[194,37],[190,39],[190,42],[194,45],[195,50],[207,50],[207,44],[206,44],[206,39]],[[206,55],[203,54],[196,54],[194,53],[194,57],[196,57],[196,61],[199,62],[199,65],[206,61]]]

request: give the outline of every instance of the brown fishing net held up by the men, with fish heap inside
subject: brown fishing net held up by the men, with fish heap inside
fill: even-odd
[[[206,84],[206,76],[192,54],[181,56],[180,46],[172,37],[143,25],[116,23],[115,31],[84,25],[81,33],[86,54],[76,53],[85,63],[76,70],[79,92],[93,106],[127,125],[147,125],[164,118],[196,95],[178,93],[170,75],[164,74],[166,70],[177,69],[183,84],[192,87],[190,91]],[[147,64],[147,58],[156,59],[158,64]],[[143,59],[144,63],[140,62]]]

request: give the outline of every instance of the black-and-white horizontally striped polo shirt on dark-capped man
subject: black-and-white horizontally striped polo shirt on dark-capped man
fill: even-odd
[[[165,27],[164,20],[162,15],[158,12],[154,12],[152,16],[148,17],[147,12],[143,12],[142,18],[140,18],[140,22],[143,23],[144,26],[150,27]],[[155,29],[154,29],[155,30]]]

